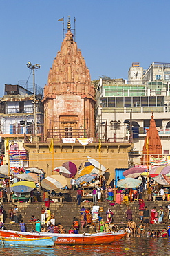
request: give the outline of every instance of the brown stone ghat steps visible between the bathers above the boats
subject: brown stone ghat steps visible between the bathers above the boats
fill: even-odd
[[[34,224],[29,223],[30,217],[34,215],[36,219],[41,219],[41,208],[44,207],[44,203],[42,202],[35,202],[35,203],[15,203],[17,207],[19,208],[19,220],[23,219],[23,221],[26,223],[26,226],[28,227],[28,231],[34,230]],[[93,206],[93,203],[81,203],[80,206],[77,205],[76,202],[63,202],[63,203],[50,203],[50,210],[51,213],[54,214],[56,223],[61,223],[66,230],[69,230],[70,226],[72,225],[72,220],[74,217],[79,217],[79,211],[84,205],[85,208],[91,208]],[[111,206],[109,202],[100,202],[97,203],[98,206],[103,207],[103,212],[100,212],[101,217],[103,217],[106,221],[106,211],[108,208],[111,208],[111,210],[114,212],[114,223],[118,224],[118,226],[124,226],[127,223],[126,220],[126,205],[114,205]],[[156,206],[156,210],[160,208],[160,206],[163,206],[165,208],[165,205],[168,205],[167,201],[156,201],[156,202],[145,202],[145,205],[148,207],[149,212],[151,212],[151,208],[153,206]],[[4,214],[5,217],[5,226],[7,229],[12,230],[19,230],[19,225],[17,224],[11,224],[10,219],[8,218],[8,210],[10,207],[12,207],[12,203],[3,203],[3,208],[6,211],[6,214]],[[131,210],[133,213],[133,220],[136,223],[139,223],[139,211],[138,211],[138,202],[131,203]],[[151,225],[151,228],[154,229],[163,227],[163,225]],[[85,232],[88,232],[88,229],[84,229]]]

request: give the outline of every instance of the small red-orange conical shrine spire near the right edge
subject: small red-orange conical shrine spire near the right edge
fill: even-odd
[[[156,122],[153,119],[153,113],[151,115],[150,126],[143,146],[143,157],[141,159],[142,165],[150,165],[149,156],[156,158],[162,157],[162,145],[158,130],[156,129]]]

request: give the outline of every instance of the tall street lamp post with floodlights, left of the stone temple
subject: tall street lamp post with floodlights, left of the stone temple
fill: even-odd
[[[34,93],[34,132],[37,136],[37,122],[36,122],[36,94],[35,94],[35,69],[39,69],[41,66],[39,64],[32,65],[31,62],[28,62],[27,67],[32,70],[33,76],[33,93]]]

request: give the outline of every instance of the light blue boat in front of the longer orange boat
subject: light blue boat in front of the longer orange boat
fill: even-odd
[[[2,246],[51,247],[58,237],[0,237]]]

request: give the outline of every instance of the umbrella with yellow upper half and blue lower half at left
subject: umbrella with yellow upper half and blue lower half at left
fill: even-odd
[[[17,193],[27,193],[36,187],[32,181],[19,181],[10,186],[11,190]]]

